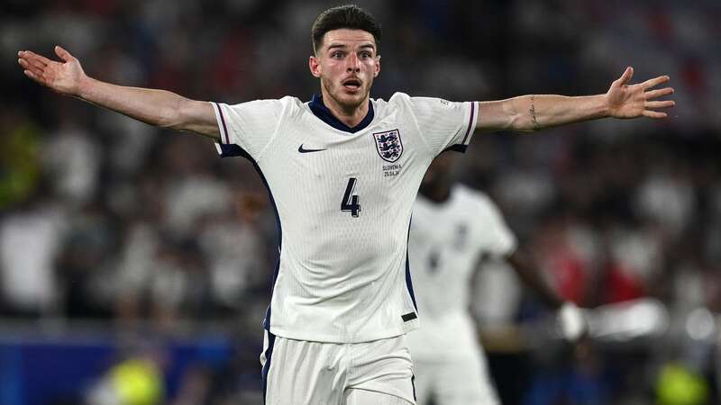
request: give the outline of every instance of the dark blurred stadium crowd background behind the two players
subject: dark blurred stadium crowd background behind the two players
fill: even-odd
[[[612,344],[491,338],[505,403],[719,403],[721,4],[359,4],[384,29],[375,98],[598,94],[629,65],[635,82],[671,76],[668,120],[477,134],[458,174],[494,198],[566,299],[653,298],[670,314],[661,335]],[[1,403],[260,403],[278,235],[249,162],[52,94],[16,52],[61,44],[89,76],[200,100],[307,101],[310,26],[331,5],[0,4]],[[478,284],[481,328],[549,315],[502,263]]]

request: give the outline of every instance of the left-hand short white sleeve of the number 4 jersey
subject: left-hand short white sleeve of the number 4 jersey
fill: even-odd
[[[211,104],[220,130],[216,147],[221,157],[245,156],[255,160],[268,146],[284,110],[282,99]]]

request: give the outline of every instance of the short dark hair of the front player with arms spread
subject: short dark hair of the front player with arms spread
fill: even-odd
[[[329,8],[318,15],[311,29],[313,50],[320,48],[325,32],[342,28],[367,31],[376,40],[376,47],[380,44],[380,24],[367,11],[355,4],[348,4]]]

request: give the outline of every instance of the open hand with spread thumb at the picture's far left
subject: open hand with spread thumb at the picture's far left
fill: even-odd
[[[21,50],[17,53],[17,62],[23,67],[25,76],[50,87],[50,89],[68,95],[78,95],[80,84],[87,77],[77,58],[60,48],[55,47],[55,53],[61,62],[50,60],[30,50]]]

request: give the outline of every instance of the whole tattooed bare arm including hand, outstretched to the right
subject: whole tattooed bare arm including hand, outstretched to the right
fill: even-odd
[[[606,94],[565,96],[555,94],[521,95],[507,100],[480,103],[480,119],[476,130],[534,131],[571,122],[599,118],[665,118],[658,109],[675,105],[671,100],[656,100],[673,93],[673,88],[652,90],[670,80],[658,76],[643,83],[629,85],[633,67],[611,84]]]

